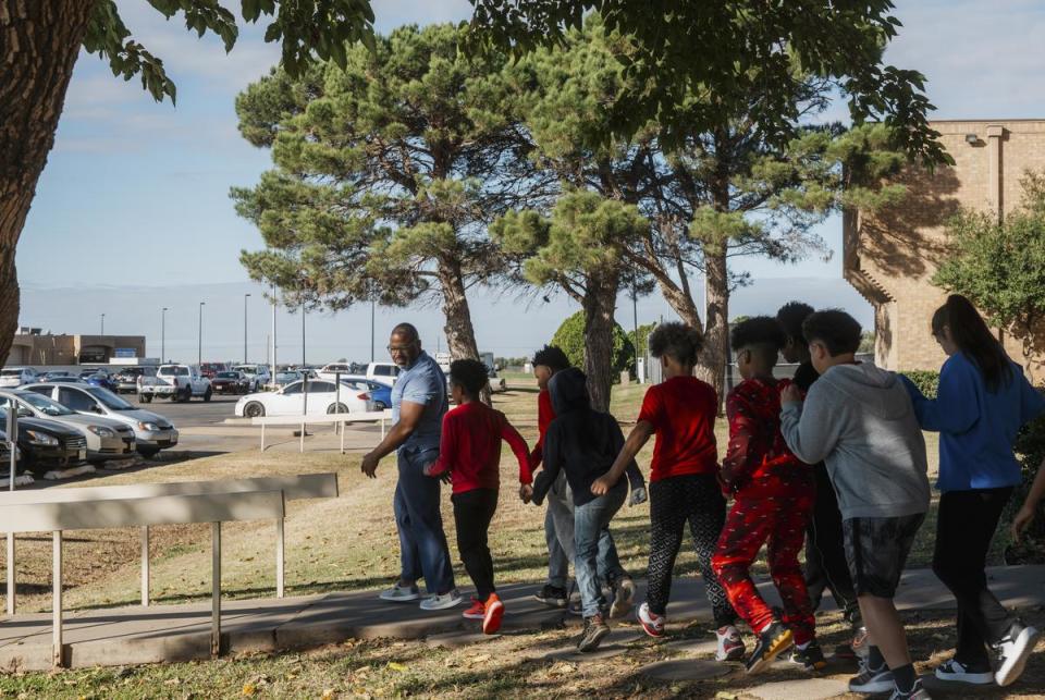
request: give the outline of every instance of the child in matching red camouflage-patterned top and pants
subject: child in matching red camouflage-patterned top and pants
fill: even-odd
[[[792,643],[792,656],[808,670],[823,668],[815,619],[798,563],[815,490],[810,468],[780,434],[780,392],[773,378],[786,339],[776,319],[757,317],[734,327],[730,343],[743,381],[726,398],[729,447],[723,459],[723,490],[734,502],[712,566],[737,613],[758,636],[746,662],[749,674],[765,668]],[[749,569],[769,543],[770,575],[784,603],[783,624],[759,595]]]

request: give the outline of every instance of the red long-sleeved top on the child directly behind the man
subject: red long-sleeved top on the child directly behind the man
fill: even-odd
[[[501,486],[501,441],[519,460],[519,482],[530,483],[530,454],[526,441],[504,414],[479,401],[457,406],[443,416],[439,459],[432,476],[450,471],[454,493]]]

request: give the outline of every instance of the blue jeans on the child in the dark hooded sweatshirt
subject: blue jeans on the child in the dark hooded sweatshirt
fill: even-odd
[[[580,603],[585,617],[593,617],[605,610],[606,601],[599,586],[599,563],[604,570],[623,572],[617,558],[617,548],[610,533],[610,520],[617,514],[628,495],[628,482],[620,479],[606,495],[583,505],[574,506],[574,574],[580,589]],[[600,540],[602,548],[600,548]],[[601,556],[600,556],[600,550]]]

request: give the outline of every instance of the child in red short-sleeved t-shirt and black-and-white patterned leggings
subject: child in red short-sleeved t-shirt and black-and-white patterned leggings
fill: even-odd
[[[737,614],[711,567],[726,519],[726,501],[715,478],[718,398],[710,384],[693,377],[701,347],[703,339],[689,326],[662,323],[653,331],[650,354],[661,359],[665,380],[646,392],[637,425],[610,472],[592,491],[602,492],[616,483],[628,463],[656,435],[650,470],[649,586],[646,602],[639,606],[639,622],[651,637],[664,634],[675,557],[689,521],[715,617],[716,656],[726,661],[743,656],[743,642],[734,625]]]

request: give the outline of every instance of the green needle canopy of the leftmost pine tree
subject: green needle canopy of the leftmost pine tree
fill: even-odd
[[[242,134],[276,165],[232,191],[267,246],[242,256],[253,279],[336,309],[409,304],[503,270],[485,224],[525,201],[531,170],[505,59],[469,59],[458,39],[450,25],[401,27],[373,51],[349,48],[344,70],[278,69],[239,95]]]

